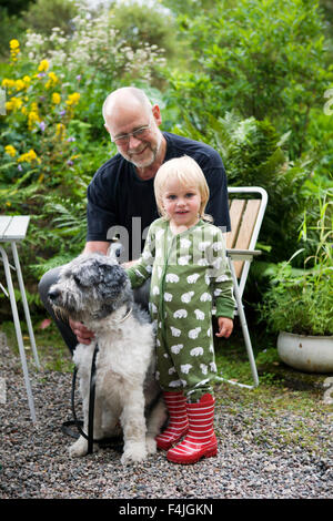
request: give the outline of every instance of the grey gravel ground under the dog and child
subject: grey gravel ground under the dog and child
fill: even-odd
[[[2,499],[332,499],[332,415],[309,415],[305,426],[321,423],[317,450],[281,442],[301,417],[284,410],[272,418],[258,407],[218,405],[219,453],[193,466],[167,461],[165,453],[123,468],[120,452],[103,448],[81,459],[68,457],[72,438],[61,431],[71,419],[71,375],[30,370],[38,428],[30,421],[20,360],[0,343],[0,498]],[[225,392],[223,386],[219,394]],[[235,388],[234,388],[235,389]],[[241,390],[239,391],[241,392]],[[244,391],[243,391],[244,392]],[[4,402],[3,402],[4,401]],[[232,411],[233,409],[233,411]],[[256,419],[253,421],[253,419]],[[279,429],[276,425],[279,423]],[[249,428],[249,425],[251,426]],[[304,427],[304,425],[303,425]],[[278,433],[279,431],[279,433]],[[263,433],[266,441],[263,440]],[[321,451],[321,446],[326,450]],[[331,446],[331,447],[330,447]],[[329,450],[327,450],[329,448]]]

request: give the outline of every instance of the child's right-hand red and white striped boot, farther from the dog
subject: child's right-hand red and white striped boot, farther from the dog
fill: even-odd
[[[167,453],[173,463],[195,463],[201,458],[218,453],[218,440],[214,433],[214,403],[212,395],[201,397],[199,403],[186,403],[189,417],[188,436]]]

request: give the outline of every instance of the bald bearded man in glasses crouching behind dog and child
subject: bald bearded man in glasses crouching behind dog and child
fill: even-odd
[[[135,88],[112,92],[103,104],[103,118],[118,154],[104,163],[88,187],[88,235],[83,253],[107,254],[115,233],[125,232],[125,257],[140,255],[144,231],[158,218],[153,180],[161,164],[172,157],[189,155],[201,166],[209,187],[206,213],[216,226],[230,229],[226,176],[220,155],[209,145],[168,132],[161,132],[160,109],[152,105],[145,93]],[[43,304],[48,290],[57,280],[60,268],[47,273],[39,292]],[[90,344],[92,334],[83,324],[70,320],[69,325],[53,316],[71,351],[78,341]]]

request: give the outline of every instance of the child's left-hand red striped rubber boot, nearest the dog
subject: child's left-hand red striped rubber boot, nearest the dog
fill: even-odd
[[[164,401],[170,415],[167,429],[157,436],[158,449],[168,450],[188,432],[189,420],[186,399],[183,392],[163,392]]]

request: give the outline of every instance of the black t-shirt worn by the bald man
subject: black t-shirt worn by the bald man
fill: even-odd
[[[201,166],[210,187],[205,213],[216,226],[230,231],[226,176],[222,160],[211,146],[163,132],[165,161],[189,155]],[[110,241],[117,233],[128,259],[138,258],[149,225],[159,217],[153,190],[154,180],[142,181],[132,163],[115,154],[94,174],[88,186],[87,241]],[[127,260],[123,257],[122,260]]]

